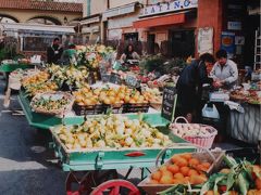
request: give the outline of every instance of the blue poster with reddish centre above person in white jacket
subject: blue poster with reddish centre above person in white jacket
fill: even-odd
[[[228,58],[232,58],[235,53],[235,34],[222,31],[221,35],[221,49],[227,52]]]

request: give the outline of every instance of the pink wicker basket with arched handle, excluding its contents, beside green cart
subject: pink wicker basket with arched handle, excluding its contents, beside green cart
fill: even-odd
[[[184,119],[186,121],[186,123],[188,123],[188,121],[184,117],[177,117],[175,119],[174,123],[177,123],[178,119]],[[214,142],[214,138],[217,134],[217,130],[211,126],[206,126],[206,125],[201,125],[201,123],[198,123],[198,125],[200,127],[206,127],[206,130],[209,131],[209,134],[208,135],[196,135],[196,136],[185,135],[185,136],[183,136],[183,139],[192,144],[199,145],[201,147],[211,148],[211,146]]]

